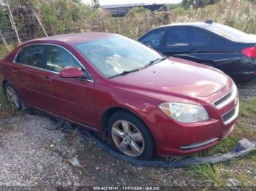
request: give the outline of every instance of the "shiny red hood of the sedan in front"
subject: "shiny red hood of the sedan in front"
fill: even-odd
[[[199,63],[169,58],[146,69],[112,79],[121,87],[204,97],[227,85],[227,75]]]

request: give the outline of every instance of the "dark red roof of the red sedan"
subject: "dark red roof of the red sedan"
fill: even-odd
[[[91,42],[97,39],[105,39],[111,36],[118,36],[118,34],[100,33],[100,32],[86,32],[86,33],[73,33],[73,34],[59,34],[54,36],[46,36],[39,39],[29,41],[33,42],[64,42],[67,44],[80,44],[82,42]]]

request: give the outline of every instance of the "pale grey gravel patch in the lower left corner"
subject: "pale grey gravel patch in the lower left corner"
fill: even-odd
[[[56,123],[26,114],[0,123],[0,185],[79,185],[79,177],[55,147],[63,133],[46,130]]]

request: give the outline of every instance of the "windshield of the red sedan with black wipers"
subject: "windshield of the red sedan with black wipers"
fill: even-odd
[[[135,40],[114,36],[77,44],[78,50],[107,78],[143,69],[163,56]]]

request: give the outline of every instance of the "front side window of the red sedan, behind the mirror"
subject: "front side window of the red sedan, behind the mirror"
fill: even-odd
[[[77,67],[80,70],[82,69],[78,61],[76,61],[75,58],[67,52],[67,50],[64,50],[64,48],[61,47],[49,45],[46,69],[59,72],[62,69],[67,69],[69,67]]]

